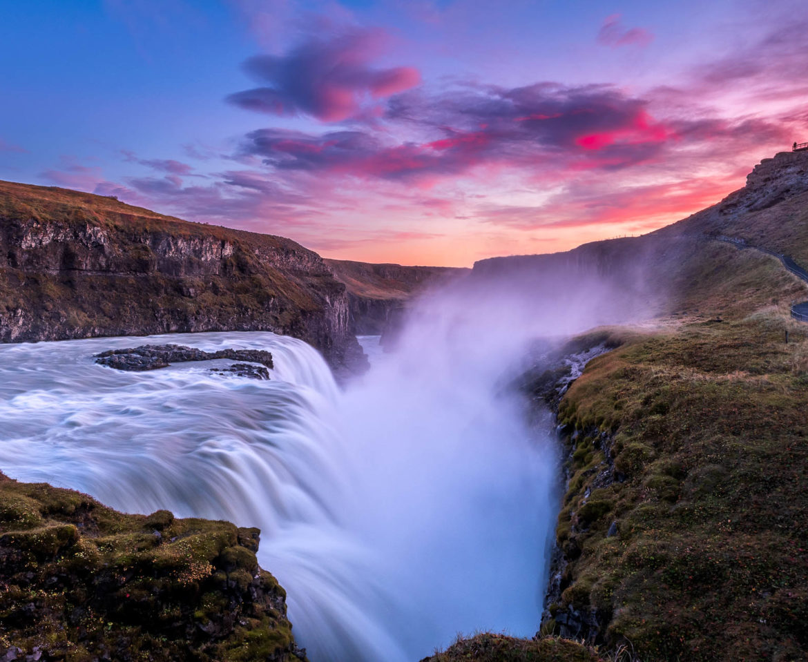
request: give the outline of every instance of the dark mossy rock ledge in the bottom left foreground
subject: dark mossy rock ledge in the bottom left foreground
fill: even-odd
[[[303,662],[259,530],[0,474],[0,660]]]

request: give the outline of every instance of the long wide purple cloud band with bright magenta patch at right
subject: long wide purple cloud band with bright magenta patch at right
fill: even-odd
[[[244,154],[276,172],[434,181],[477,165],[541,170],[562,165],[604,170],[655,157],[674,133],[646,101],[607,86],[467,86],[451,94],[401,94],[385,116],[429,136],[391,142],[366,131],[320,135],[266,128],[250,132]]]

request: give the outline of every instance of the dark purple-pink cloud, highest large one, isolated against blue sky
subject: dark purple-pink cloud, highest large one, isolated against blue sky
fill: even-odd
[[[264,86],[230,94],[227,100],[268,115],[311,115],[324,122],[356,118],[368,110],[368,100],[420,82],[411,67],[369,65],[384,40],[381,31],[354,30],[328,40],[311,39],[284,56],[251,57],[244,69]]]

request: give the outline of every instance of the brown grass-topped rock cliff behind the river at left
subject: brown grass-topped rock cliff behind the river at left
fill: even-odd
[[[263,330],[361,358],[346,288],[283,237],[0,182],[0,341]]]

